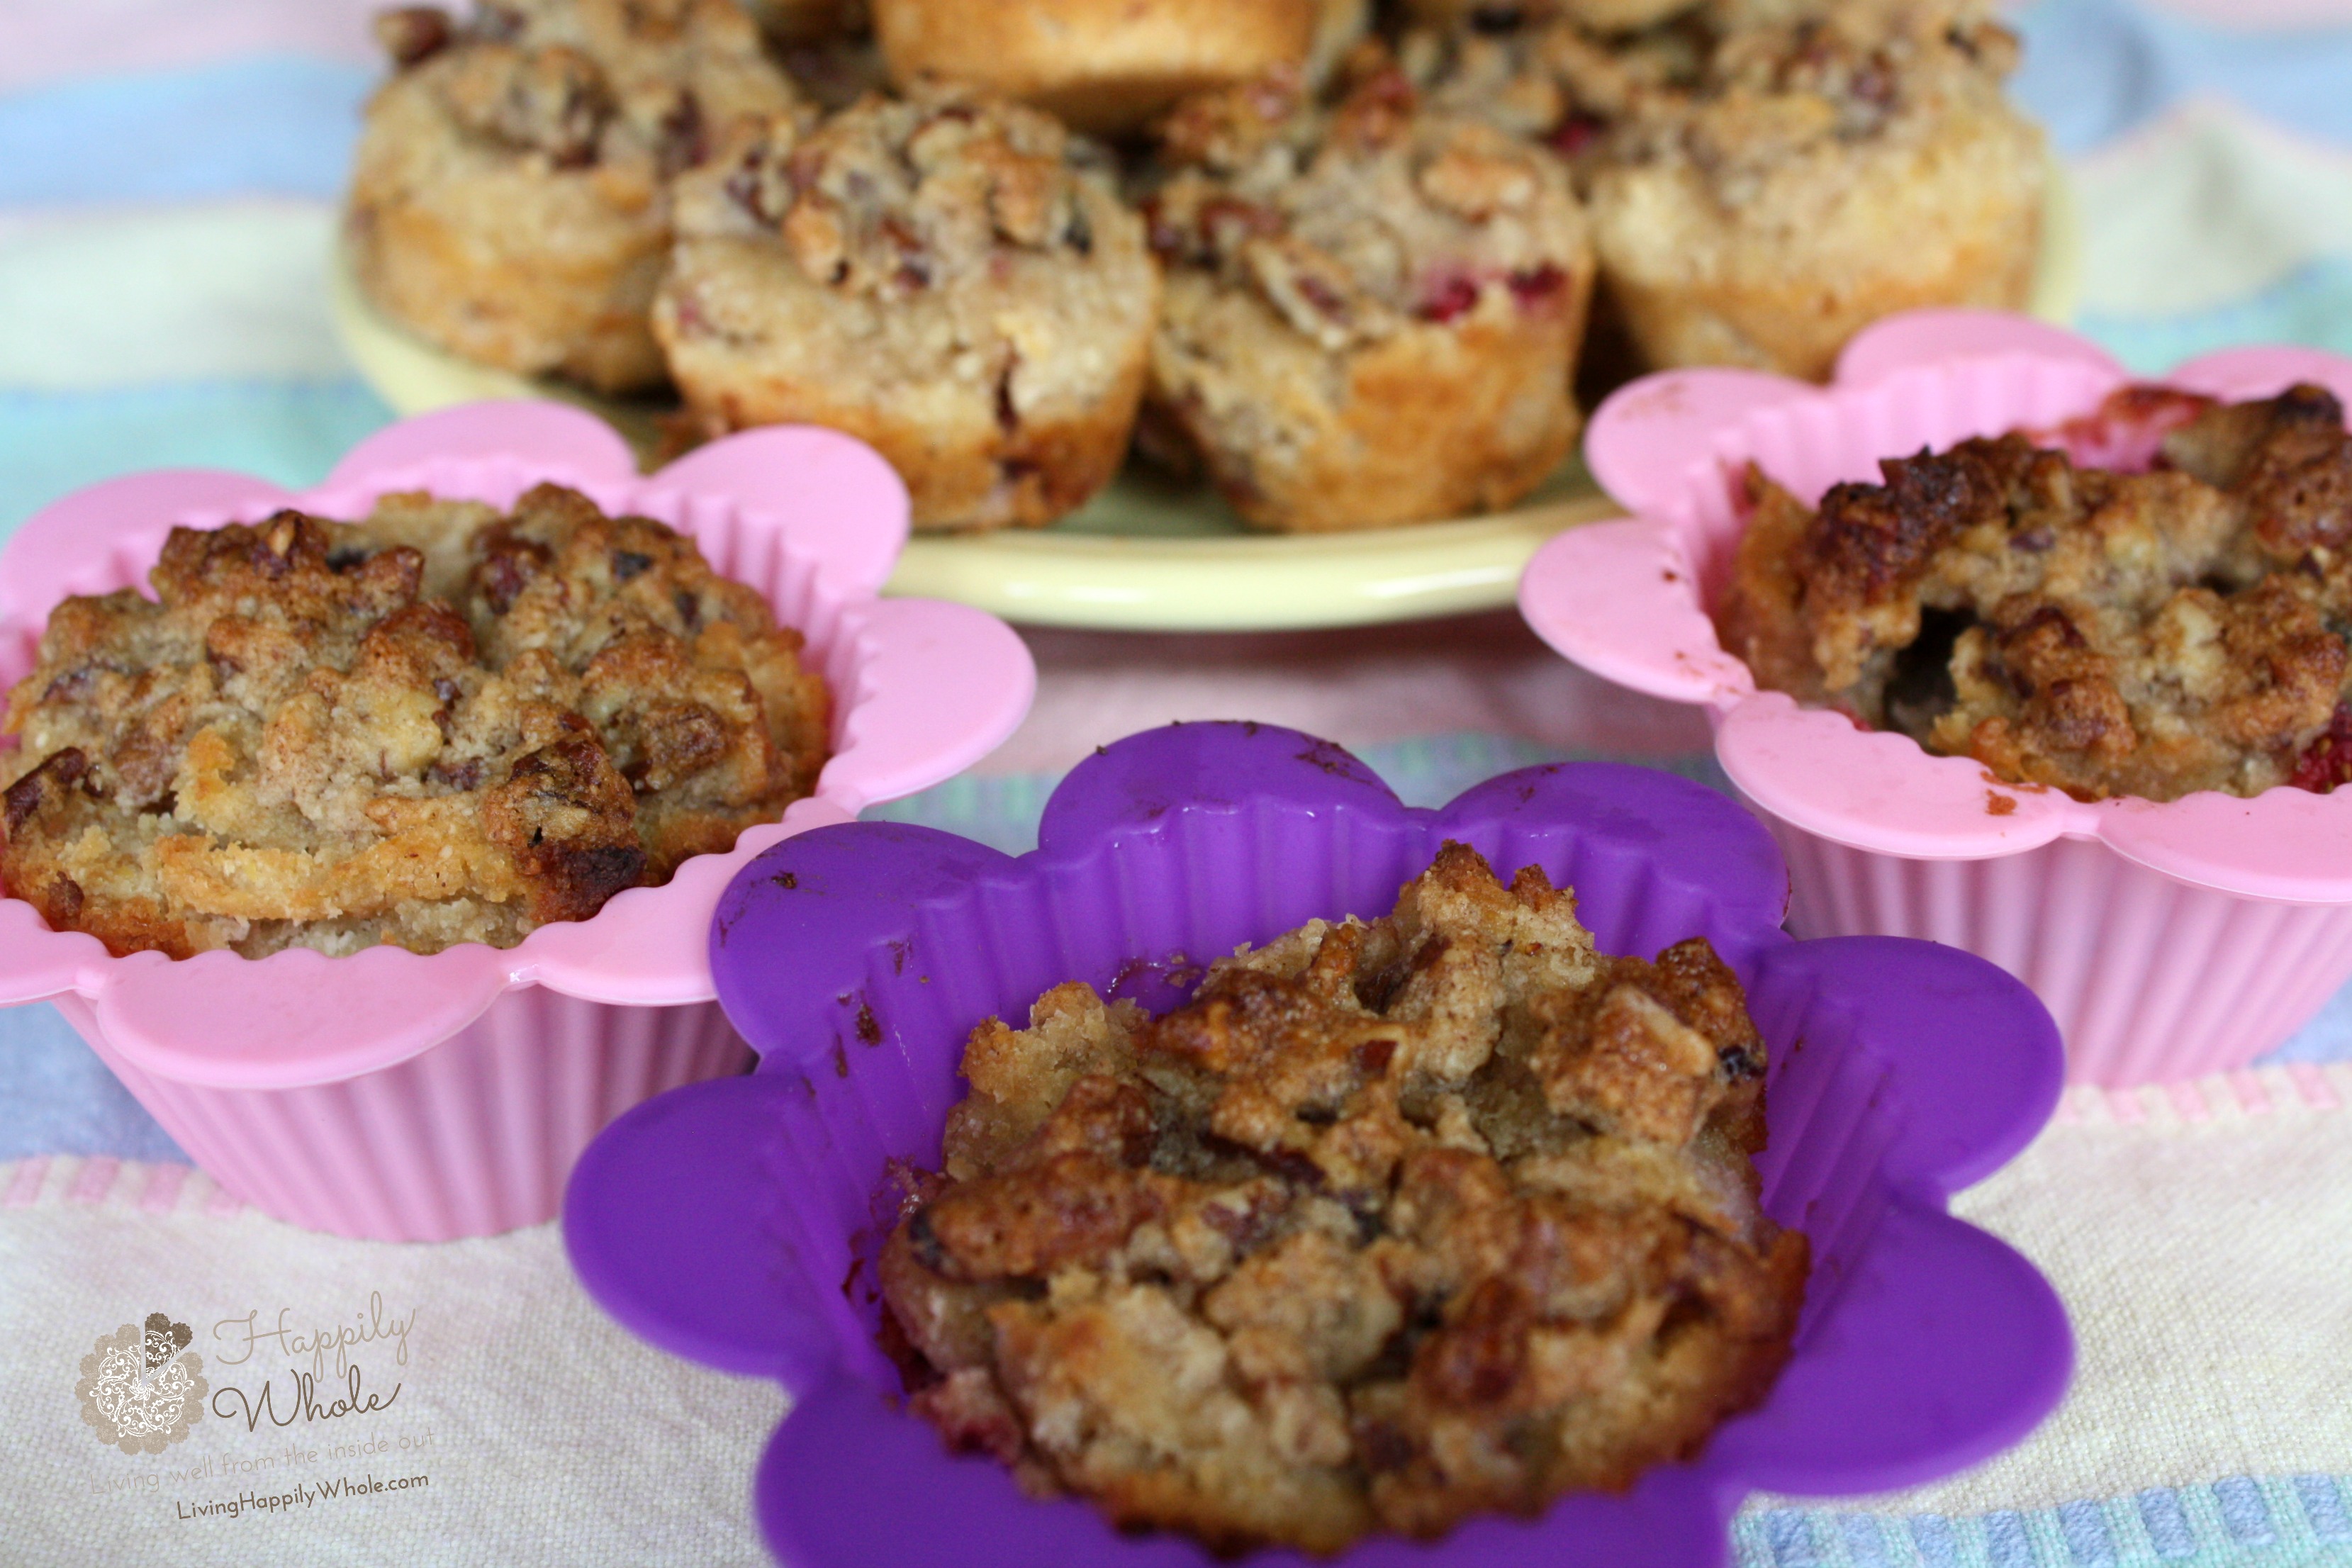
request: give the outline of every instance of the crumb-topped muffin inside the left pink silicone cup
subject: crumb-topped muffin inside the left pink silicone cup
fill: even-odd
[[[0,879],[111,952],[510,947],[816,785],[800,632],[541,484],[172,529],[9,693]]]

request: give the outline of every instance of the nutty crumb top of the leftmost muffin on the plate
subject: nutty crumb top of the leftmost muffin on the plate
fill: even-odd
[[[628,174],[694,167],[739,115],[797,96],[731,0],[496,0],[463,24],[412,5],[376,38],[470,141],[550,174],[609,169],[623,205]]]

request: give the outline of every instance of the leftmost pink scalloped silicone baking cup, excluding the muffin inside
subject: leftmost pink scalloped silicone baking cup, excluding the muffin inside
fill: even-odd
[[[143,588],[172,524],[282,505],[360,517],[405,489],[508,505],[541,480],[691,534],[807,635],[833,689],[816,795],[666,886],[510,950],[115,959],[0,900],[0,1004],[56,1001],[195,1164],[280,1220],[428,1241],[553,1218],[600,1126],[748,1063],[706,947],[727,879],[788,835],[957,773],[1028,712],[1035,668],[1011,628],[875,597],[906,543],[906,491],[858,442],[753,430],[640,477],[600,421],[534,402],[397,423],[299,496],[247,475],[153,473],[59,501],[0,550],[0,682],[31,670],[66,595]]]

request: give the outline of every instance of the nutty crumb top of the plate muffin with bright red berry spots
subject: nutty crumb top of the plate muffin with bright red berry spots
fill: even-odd
[[[1428,110],[1374,49],[1329,108],[1296,73],[1181,103],[1160,158],[1143,214],[1162,261],[1261,294],[1334,353],[1482,306],[1566,308],[1590,268],[1562,169]]]

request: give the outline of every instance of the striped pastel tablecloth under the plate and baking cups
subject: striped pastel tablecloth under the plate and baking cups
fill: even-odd
[[[322,284],[374,73],[367,9],[0,7],[0,531],[132,468],[315,482],[390,418]],[[2018,92],[2072,167],[2086,331],[2136,369],[2246,341],[2352,350],[2343,0],[2046,0],[2018,19]],[[889,816],[1018,849],[1058,771],[1190,717],[1334,736],[1421,802],[1564,755],[1710,776],[1691,715],[1581,677],[1510,616],[1033,646],[1028,726]],[[2074,1309],[2065,1408],[1912,1495],[1755,1500],[1740,1563],[2352,1563],[2345,1058],[2352,997],[2256,1072],[2074,1091],[1962,1199]],[[75,1380],[148,1312],[191,1324],[238,1396],[183,1443],[120,1455],[92,1441]],[[362,1408],[336,1413],[353,1387]],[[550,1227],[379,1246],[245,1211],[54,1011],[0,1016],[0,1568],[755,1563],[746,1476],[779,1408],[612,1328]]]

